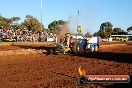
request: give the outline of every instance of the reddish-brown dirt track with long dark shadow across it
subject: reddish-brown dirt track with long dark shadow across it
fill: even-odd
[[[0,44],[0,88],[132,88],[132,83],[79,86],[74,78],[79,76],[79,66],[86,74],[132,76],[132,45],[106,43],[98,53],[75,56]]]

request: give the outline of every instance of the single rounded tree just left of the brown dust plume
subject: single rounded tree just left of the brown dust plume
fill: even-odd
[[[59,20],[59,21],[53,21],[48,25],[48,29],[50,32],[60,34],[61,27],[66,24],[66,21]]]

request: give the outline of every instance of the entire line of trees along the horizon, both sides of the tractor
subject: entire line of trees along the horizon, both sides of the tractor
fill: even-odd
[[[48,29],[44,28],[44,25],[39,22],[39,20],[32,16],[32,15],[26,15],[25,20],[21,23],[18,23],[18,21],[21,20],[20,17],[11,17],[11,18],[5,18],[3,16],[0,16],[0,26],[3,26],[5,29],[10,29],[11,27],[14,27],[16,29],[27,29],[29,31],[48,31],[56,34],[60,34],[61,27],[66,24],[66,21],[58,20],[53,21],[48,25]],[[75,29],[76,30],[76,29]],[[132,31],[132,26],[127,28],[127,31],[122,30],[121,28],[113,28],[113,25],[111,22],[104,22],[100,25],[99,31],[95,32],[94,36],[100,36],[101,38],[108,38],[111,35],[126,35],[129,34],[129,32]],[[87,35],[87,33],[85,34]]]

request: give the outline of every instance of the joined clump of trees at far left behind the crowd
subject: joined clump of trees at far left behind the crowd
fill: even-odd
[[[0,26],[2,26],[5,30],[12,28],[15,29],[27,29],[32,31],[40,31],[45,30],[43,24],[39,22],[39,20],[31,15],[26,15],[24,22],[18,23],[21,20],[20,17],[11,17],[6,18],[0,16]]]

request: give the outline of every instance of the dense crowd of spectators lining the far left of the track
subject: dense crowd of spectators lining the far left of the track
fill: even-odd
[[[48,37],[56,39],[54,35],[45,31],[29,31],[27,29],[14,29],[12,27],[4,30],[3,27],[0,27],[0,41],[46,42]]]

